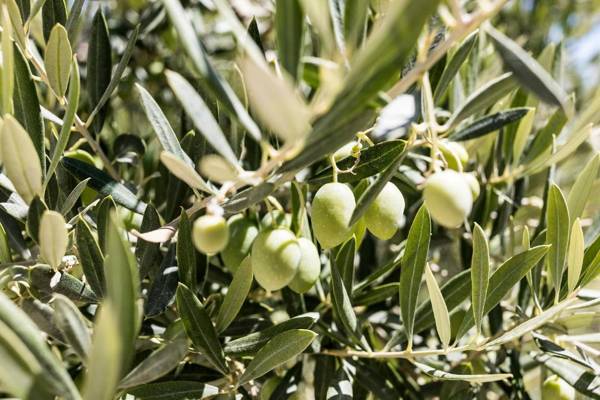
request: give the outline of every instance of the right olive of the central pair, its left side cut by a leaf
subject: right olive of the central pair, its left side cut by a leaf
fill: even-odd
[[[404,213],[404,196],[396,185],[385,184],[365,213],[367,229],[381,240],[388,240],[398,230]]]

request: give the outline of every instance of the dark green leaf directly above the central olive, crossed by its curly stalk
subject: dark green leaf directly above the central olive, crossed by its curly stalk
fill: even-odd
[[[396,157],[404,151],[406,142],[403,140],[389,140],[377,143],[360,152],[360,158],[346,157],[337,162],[337,167],[341,171],[352,171],[338,173],[338,181],[342,183],[352,183],[369,178],[386,169]],[[308,182],[311,185],[321,185],[331,182],[332,167],[315,174]]]

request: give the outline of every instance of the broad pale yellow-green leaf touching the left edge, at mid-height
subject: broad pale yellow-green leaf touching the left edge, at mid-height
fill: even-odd
[[[31,138],[11,115],[4,118],[0,134],[4,172],[17,193],[30,203],[42,195],[42,169]]]

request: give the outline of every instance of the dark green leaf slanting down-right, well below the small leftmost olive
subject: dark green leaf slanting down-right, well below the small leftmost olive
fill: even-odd
[[[185,285],[177,288],[177,309],[188,337],[222,374],[228,371],[217,332],[200,300]]]

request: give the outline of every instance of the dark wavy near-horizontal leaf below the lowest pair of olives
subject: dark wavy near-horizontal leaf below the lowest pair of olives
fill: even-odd
[[[319,319],[318,313],[297,315],[260,332],[234,339],[225,345],[225,354],[244,356],[258,351],[273,337],[292,329],[310,329]]]

